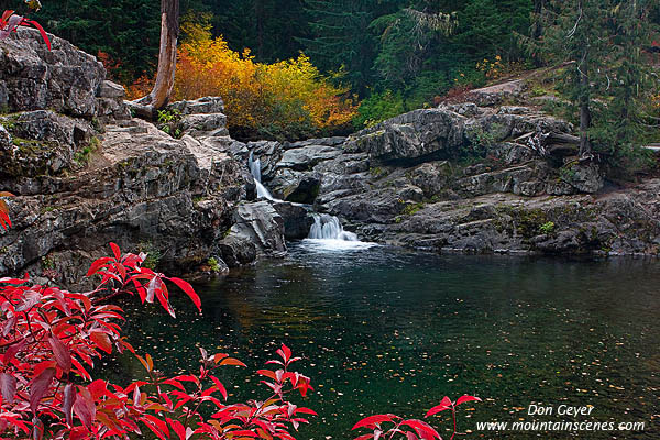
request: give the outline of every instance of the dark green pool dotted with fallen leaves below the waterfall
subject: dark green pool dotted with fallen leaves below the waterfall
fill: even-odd
[[[184,298],[178,319],[129,308],[132,342],[161,370],[197,369],[198,349],[234,353],[235,396],[265,397],[252,374],[286,342],[317,392],[320,417],[299,439],[351,439],[362,417],[422,417],[446,395],[472,394],[466,439],[660,438],[660,271],[657,261],[571,262],[437,256],[385,248],[293,246],[199,286],[204,315]],[[128,358],[113,363],[142,374]],[[530,404],[592,405],[590,416],[529,416]],[[469,410],[474,408],[474,410]],[[645,422],[638,432],[488,432],[482,421]],[[433,425],[448,439],[448,418]]]

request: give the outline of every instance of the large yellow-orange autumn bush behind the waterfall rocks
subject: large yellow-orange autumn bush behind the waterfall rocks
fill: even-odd
[[[271,138],[304,138],[342,130],[355,106],[346,89],[323,79],[309,58],[256,63],[245,50],[231,51],[206,30],[179,46],[175,99],[220,96],[230,130]]]

